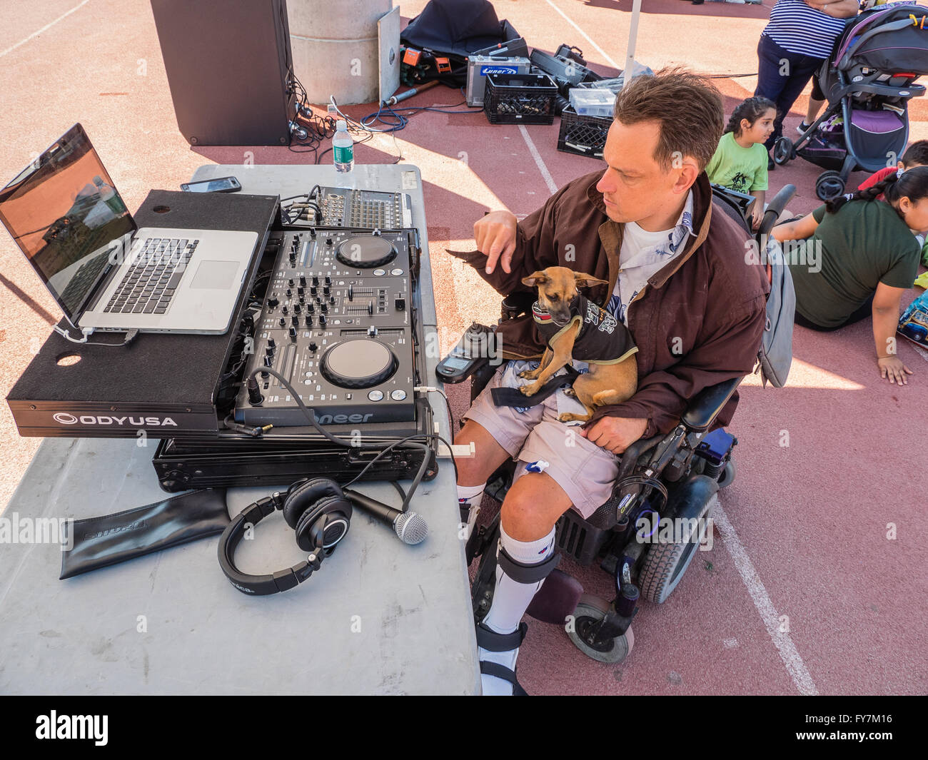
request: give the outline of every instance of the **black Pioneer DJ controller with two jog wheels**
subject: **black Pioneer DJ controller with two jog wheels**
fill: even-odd
[[[320,425],[415,420],[415,230],[310,227],[278,235],[244,377],[275,369]],[[238,423],[307,425],[280,380],[266,372],[257,379],[257,395],[245,384],[238,393]]]

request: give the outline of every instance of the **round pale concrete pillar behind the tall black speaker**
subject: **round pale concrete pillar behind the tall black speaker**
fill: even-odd
[[[379,96],[377,19],[393,0],[287,0],[293,70],[310,103]]]

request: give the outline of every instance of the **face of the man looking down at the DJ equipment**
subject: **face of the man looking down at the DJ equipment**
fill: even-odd
[[[659,136],[659,122],[612,122],[602,151],[608,167],[596,189],[602,193],[613,222],[640,223],[672,212],[699,174],[695,161],[684,156],[677,157],[669,171],[664,171],[654,161]]]

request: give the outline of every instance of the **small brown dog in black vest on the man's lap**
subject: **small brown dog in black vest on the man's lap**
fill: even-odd
[[[577,291],[594,285],[608,285],[605,280],[565,266],[548,266],[522,279],[522,284],[537,287],[538,300],[532,306],[538,331],[547,347],[537,369],[527,369],[519,376],[535,382],[519,390],[534,395],[561,367],[574,359],[589,364],[589,372],[574,380],[567,395],[586,406],[586,415],[564,413],[561,422],[585,421],[597,406],[621,404],[638,390],[638,348],[631,333],[614,316],[588,301]],[[614,355],[613,355],[614,354]]]

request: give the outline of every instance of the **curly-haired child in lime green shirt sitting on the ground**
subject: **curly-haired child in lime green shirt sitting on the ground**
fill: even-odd
[[[710,182],[754,196],[751,212],[754,229],[764,217],[767,192],[764,141],[773,134],[776,118],[777,107],[772,101],[766,97],[749,97],[732,112],[715,155],[705,167]]]

